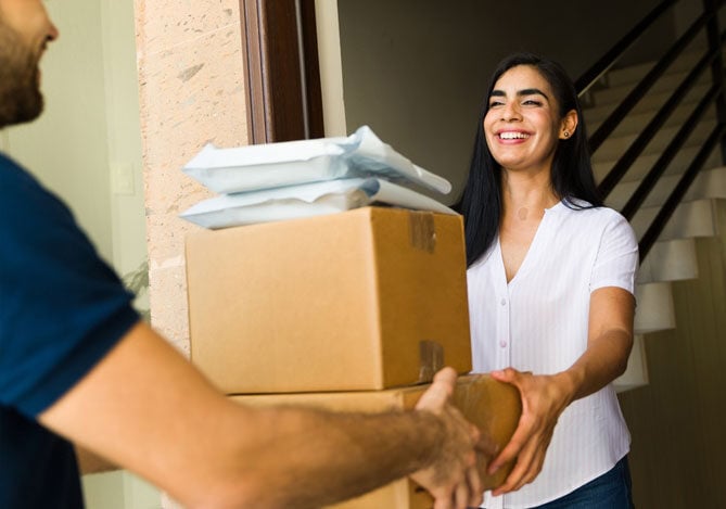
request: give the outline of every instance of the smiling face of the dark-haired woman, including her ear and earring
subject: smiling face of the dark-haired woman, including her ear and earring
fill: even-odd
[[[512,67],[488,101],[484,137],[494,160],[511,171],[549,171],[559,138],[565,138],[565,119],[547,80],[533,66]]]

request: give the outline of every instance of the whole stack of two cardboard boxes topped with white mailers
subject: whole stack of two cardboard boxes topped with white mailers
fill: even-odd
[[[470,372],[462,219],[412,189],[446,180],[368,128],[205,148],[184,169],[224,193],[182,217],[207,228],[187,239],[191,360],[230,397],[408,409],[443,366]],[[521,411],[513,387],[481,374],[460,377],[455,403],[501,445]],[[487,486],[507,473],[481,467]],[[431,505],[402,480],[335,507]]]

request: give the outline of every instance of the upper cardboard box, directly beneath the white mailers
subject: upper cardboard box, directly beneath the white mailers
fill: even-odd
[[[227,394],[471,370],[460,216],[366,207],[187,240],[191,360]]]

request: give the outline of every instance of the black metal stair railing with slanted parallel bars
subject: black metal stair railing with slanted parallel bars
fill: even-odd
[[[598,62],[586,71],[576,81],[575,86],[579,96],[589,91],[616,63],[627,53],[633,44],[651,28],[657,21],[664,16],[678,0],[665,0],[658,4],[641,22],[639,22],[628,34],[625,35],[610,51]],[[724,63],[723,44],[726,41],[726,33],[721,34],[718,29],[718,10],[724,0],[703,0],[703,13],[691,24],[683,36],[664,53],[653,65],[641,81],[626,96],[626,98],[613,110],[598,129],[590,136],[590,151],[595,153],[602,143],[613,133],[624,118],[633,111],[638,102],[646,97],[647,92],[655,85],[659,78],[673,64],[684,50],[690,46],[695,38],[706,30],[708,49],[705,54],[691,67],[688,75],[678,85],[667,101],[660,107],[653,118],[648,123],[642,132],[633,141],[631,147],[615,162],[608,175],[602,179],[598,189],[604,198],[627,174],[631,166],[646,149],[648,143],[661,131],[671,114],[680,104],[683,99],[698,82],[698,79],[708,67],[711,68],[711,80],[713,86],[705,92],[701,101],[690,113],[677,133],[664,149],[661,156],[652,165],[650,170],[634,191],[621,211],[623,216],[631,220],[638,212],[645,200],[653,190],[659,179],[673,162],[676,154],[693,132],[705,111],[715,103],[717,112],[717,125],[711,131],[697,155],[688,165],[678,183],[666,199],[665,203],[647,228],[646,233],[639,240],[640,262],[655,243],[665,228],[668,219],[683,201],[688,188],[693,182],[698,173],[704,166],[711,152],[721,143],[722,162],[726,162],[726,144],[724,133],[726,132],[726,100],[724,94]]]

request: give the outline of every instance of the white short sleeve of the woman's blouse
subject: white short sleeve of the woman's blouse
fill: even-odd
[[[606,225],[590,277],[590,292],[619,287],[635,295],[638,269],[638,241],[631,224],[613,212]]]

